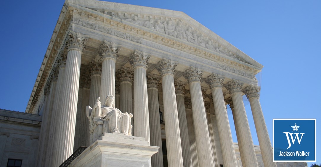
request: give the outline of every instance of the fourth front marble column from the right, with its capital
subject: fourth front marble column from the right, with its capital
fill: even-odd
[[[201,90],[200,80],[202,74],[203,71],[192,66],[183,73],[189,83],[192,99],[193,120],[194,122],[197,122],[194,124],[194,127],[199,164],[200,166],[215,166]]]

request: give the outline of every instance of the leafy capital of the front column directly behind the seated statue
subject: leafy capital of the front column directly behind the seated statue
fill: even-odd
[[[120,50],[121,46],[116,45],[113,42],[105,41],[100,45],[100,48],[98,49],[98,54],[101,59],[104,58],[118,58],[118,52]]]

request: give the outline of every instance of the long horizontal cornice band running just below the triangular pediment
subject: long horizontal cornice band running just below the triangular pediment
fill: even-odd
[[[117,17],[112,17],[93,10],[88,11],[90,9],[86,9],[80,6],[79,8],[80,9],[74,9],[73,11],[75,17],[74,24],[76,25],[87,27],[103,33],[112,34],[137,43],[141,43],[141,40],[139,40],[139,38],[143,38],[159,43],[161,45],[169,46],[174,49],[178,49],[193,55],[197,55],[199,57],[231,66],[235,69],[244,70],[245,72],[251,73],[253,75],[261,71],[261,69],[253,65],[236,60],[235,55],[224,56],[221,53],[217,53],[216,51],[211,51],[210,49],[202,48],[199,46],[192,46],[192,43],[188,43],[187,41],[183,41],[168,34],[161,34],[157,31],[151,31],[150,28],[136,25]],[[108,25],[108,27],[110,27],[111,29],[107,28],[106,25]],[[115,30],[117,31],[117,33],[113,32]],[[119,32],[121,33],[119,34]],[[137,39],[132,39],[134,37],[136,37]],[[223,70],[226,69],[224,68]],[[253,77],[251,79],[253,79]]]

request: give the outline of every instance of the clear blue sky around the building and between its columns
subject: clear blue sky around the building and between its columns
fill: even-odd
[[[320,131],[320,0],[113,2],[183,11],[264,65],[257,77],[271,142],[273,118],[317,118]],[[25,111],[63,4],[64,0],[2,1],[1,109]],[[258,145],[249,102],[245,104]],[[231,114],[229,118],[234,126]],[[236,142],[234,127],[231,130]],[[319,132],[317,150],[321,150],[318,137]]]

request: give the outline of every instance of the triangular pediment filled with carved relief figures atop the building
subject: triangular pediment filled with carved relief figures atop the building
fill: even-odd
[[[81,6],[93,12],[100,12],[106,16],[120,19],[123,24],[147,28],[154,34],[166,36],[220,57],[253,66],[259,71],[263,68],[263,65],[184,12],[96,0],[67,0],[66,2],[70,6]]]

